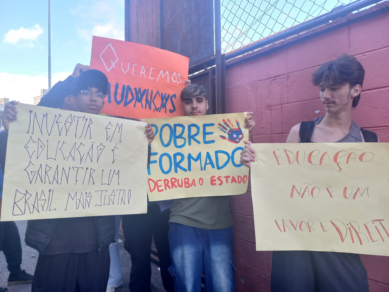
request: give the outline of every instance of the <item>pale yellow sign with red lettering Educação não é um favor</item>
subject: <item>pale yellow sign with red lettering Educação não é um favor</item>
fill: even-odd
[[[252,146],[257,250],[389,256],[389,143]]]

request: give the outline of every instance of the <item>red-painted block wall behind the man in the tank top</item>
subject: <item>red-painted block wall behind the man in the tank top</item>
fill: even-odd
[[[323,62],[348,53],[355,55],[366,70],[353,119],[361,127],[375,131],[381,142],[389,142],[387,7],[380,12],[359,12],[359,16],[335,21],[329,29],[319,28],[297,40],[289,39],[284,45],[273,45],[234,60],[226,69],[227,113],[254,111],[253,142],[285,142],[293,125],[325,114],[319,91],[310,83],[312,72]],[[231,208],[237,291],[270,291],[272,253],[255,251],[250,188],[244,195],[231,197]],[[368,271],[370,291],[389,291],[389,257],[361,257]]]

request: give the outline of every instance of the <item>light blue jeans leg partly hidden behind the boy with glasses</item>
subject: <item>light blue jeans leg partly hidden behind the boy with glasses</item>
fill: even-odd
[[[123,283],[121,281],[122,270],[119,254],[119,228],[121,215],[115,216],[115,242],[109,245],[109,256],[111,258],[109,267],[108,286],[119,287]]]

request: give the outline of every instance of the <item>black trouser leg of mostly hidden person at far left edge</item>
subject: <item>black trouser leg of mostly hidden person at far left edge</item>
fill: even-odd
[[[19,229],[14,221],[0,222],[0,237],[3,237],[1,251],[7,261],[8,271],[15,275],[21,272],[22,246]],[[1,244],[0,244],[1,245]]]

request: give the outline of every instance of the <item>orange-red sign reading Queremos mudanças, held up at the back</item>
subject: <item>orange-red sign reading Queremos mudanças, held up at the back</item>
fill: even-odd
[[[93,37],[91,68],[109,81],[102,113],[130,118],[182,116],[189,58],[156,47]]]

